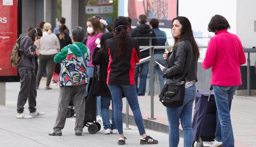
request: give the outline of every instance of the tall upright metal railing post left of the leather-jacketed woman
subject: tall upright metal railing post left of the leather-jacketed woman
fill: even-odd
[[[152,45],[152,38],[149,40],[149,45]],[[151,118],[148,119],[156,119],[154,118],[154,46],[150,48],[149,55],[150,59],[150,96],[151,96]]]

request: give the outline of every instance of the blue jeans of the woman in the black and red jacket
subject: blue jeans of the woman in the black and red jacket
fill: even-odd
[[[123,109],[123,101],[122,101],[122,90],[123,93],[132,109],[132,113],[134,116],[134,120],[140,135],[145,134],[145,128],[143,124],[143,119],[141,115],[140,105],[138,102],[136,86],[133,85],[108,85],[112,100],[114,103],[114,117],[115,124],[119,134],[123,134],[123,118],[122,118],[122,109]]]

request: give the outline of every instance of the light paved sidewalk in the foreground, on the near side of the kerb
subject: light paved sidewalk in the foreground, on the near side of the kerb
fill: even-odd
[[[19,92],[19,83],[6,83],[6,106],[0,106],[0,146],[1,147],[62,147],[62,146],[90,146],[112,147],[119,146],[118,134],[90,134],[85,127],[82,136],[75,136],[75,117],[67,118],[62,136],[49,136],[55,124],[58,107],[59,87],[50,85],[52,90],[45,90],[45,78],[42,78],[39,90],[37,90],[37,110],[45,113],[44,116],[32,119],[17,119],[16,104]],[[25,105],[25,113],[29,114],[28,104]],[[125,127],[125,124],[123,125]],[[159,144],[140,145],[140,136],[136,126],[129,126],[132,130],[124,130],[128,146],[168,146],[168,134],[146,129],[151,137],[157,139]],[[102,126],[103,128],[103,126]],[[183,146],[183,138],[180,138],[179,146]]]

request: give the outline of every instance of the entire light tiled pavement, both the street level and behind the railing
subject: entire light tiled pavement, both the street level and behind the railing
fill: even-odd
[[[84,128],[83,136],[74,135],[75,118],[67,118],[63,135],[61,137],[48,136],[55,123],[58,105],[58,86],[52,85],[52,90],[44,90],[45,79],[41,81],[37,91],[37,109],[45,112],[45,116],[32,119],[16,119],[16,103],[19,92],[19,83],[6,83],[6,106],[0,106],[0,147],[31,147],[31,146],[118,146],[116,141],[118,135],[104,135],[88,133]],[[138,97],[142,114],[145,118],[150,117],[150,97]],[[125,108],[125,99],[124,108]],[[236,147],[256,146],[256,97],[234,96],[231,106],[231,120],[235,137]],[[28,112],[28,104],[25,105],[25,112]],[[156,119],[164,118],[163,124],[167,124],[165,107],[154,99],[154,113]],[[130,113],[131,114],[131,113]],[[159,116],[159,118],[157,117]],[[161,121],[161,120],[160,120]],[[125,127],[125,124],[124,124]],[[128,139],[126,145],[139,145],[138,130],[135,126],[129,126],[132,130],[125,130]],[[144,146],[168,146],[168,134],[146,130],[147,134],[159,140],[157,145]],[[183,146],[183,139],[180,138],[179,146]]]

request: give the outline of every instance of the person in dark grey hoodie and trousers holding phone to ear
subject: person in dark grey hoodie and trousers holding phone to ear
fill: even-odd
[[[38,37],[36,37],[38,36]],[[17,101],[17,118],[32,118],[44,115],[43,112],[36,111],[36,75],[35,67],[35,50],[39,44],[42,31],[39,28],[30,30],[28,34],[19,35],[16,42],[19,43],[20,56],[22,57],[18,72],[20,75],[20,91]],[[28,109],[30,114],[24,114],[24,105],[28,100]]]

